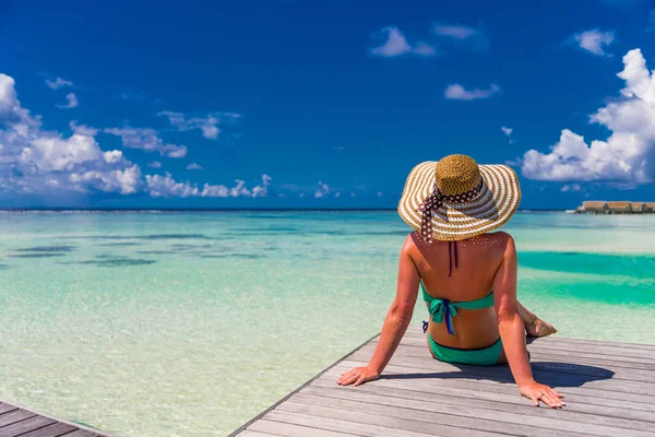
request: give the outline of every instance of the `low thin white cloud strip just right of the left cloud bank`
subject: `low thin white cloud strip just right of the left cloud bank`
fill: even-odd
[[[262,186],[257,186],[252,190],[246,187],[243,180],[237,179],[237,185],[233,188],[227,188],[224,185],[210,185],[205,184],[202,189],[198,188],[196,184],[189,181],[178,182],[172,178],[170,173],[166,173],[165,176],[160,175],[146,175],[146,191],[152,197],[209,197],[209,198],[238,198],[238,197],[265,197],[267,194],[267,188],[271,185],[271,177],[262,175]]]

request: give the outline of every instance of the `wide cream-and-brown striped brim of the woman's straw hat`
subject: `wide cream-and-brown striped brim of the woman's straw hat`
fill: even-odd
[[[428,161],[414,167],[405,182],[398,203],[398,214],[416,231],[420,231],[422,212],[419,206],[432,192],[434,166]],[[443,204],[432,213],[432,238],[456,241],[486,234],[504,225],[521,202],[516,173],[507,165],[479,165],[484,186],[478,197],[466,203]]]

